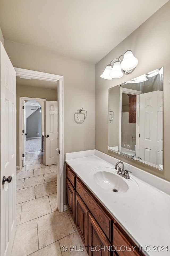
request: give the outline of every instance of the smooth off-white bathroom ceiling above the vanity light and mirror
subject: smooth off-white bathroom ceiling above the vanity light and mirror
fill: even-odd
[[[5,39],[97,63],[166,2],[0,0],[0,26]]]

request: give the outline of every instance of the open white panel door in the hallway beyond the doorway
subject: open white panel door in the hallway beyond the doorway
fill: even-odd
[[[45,101],[45,165],[56,164],[58,143],[57,101]]]

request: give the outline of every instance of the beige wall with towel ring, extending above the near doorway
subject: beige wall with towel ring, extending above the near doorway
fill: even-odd
[[[94,149],[95,65],[7,40],[5,49],[14,67],[63,75],[64,153]],[[30,93],[24,96],[33,97]],[[79,124],[75,113],[81,107],[87,110],[87,118]]]

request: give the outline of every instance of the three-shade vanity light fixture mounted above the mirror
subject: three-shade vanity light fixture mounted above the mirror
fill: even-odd
[[[123,56],[123,60],[120,57]],[[112,62],[113,66],[112,66]],[[120,55],[118,59],[113,59],[109,65],[106,66],[101,78],[112,80],[112,78],[121,78],[123,74],[130,74],[138,65],[138,59],[133,56],[132,51],[127,50],[124,55]]]

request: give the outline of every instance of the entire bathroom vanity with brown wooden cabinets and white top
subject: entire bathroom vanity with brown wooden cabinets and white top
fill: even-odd
[[[84,248],[89,255],[169,255],[170,183],[127,164],[125,179],[116,162],[97,150],[66,154],[67,207]]]

